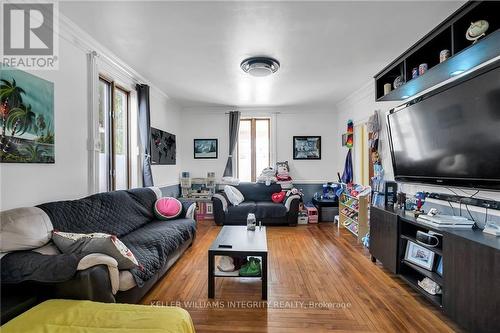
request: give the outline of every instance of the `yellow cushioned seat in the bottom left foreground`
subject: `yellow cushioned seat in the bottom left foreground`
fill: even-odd
[[[155,307],[91,301],[49,300],[2,326],[2,333],[194,333],[189,313]]]

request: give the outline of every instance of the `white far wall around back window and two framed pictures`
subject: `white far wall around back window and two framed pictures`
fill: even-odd
[[[192,177],[204,177],[214,171],[220,178],[228,156],[228,115],[231,108],[188,108],[181,115],[182,138],[180,156],[182,170]],[[271,118],[272,161],[288,161],[294,181],[325,182],[336,179],[335,151],[336,114],[334,110],[314,108],[239,109],[242,117]],[[292,157],[294,135],[320,135],[321,160],[299,161]],[[218,159],[194,159],[193,139],[218,139]],[[274,149],[273,149],[274,148]]]

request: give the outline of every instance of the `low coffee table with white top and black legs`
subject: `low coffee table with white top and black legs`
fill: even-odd
[[[219,235],[208,249],[208,298],[214,298],[216,277],[240,277],[217,274],[215,256],[260,257],[262,276],[254,278],[262,279],[262,299],[267,300],[266,227],[256,227],[255,231],[248,231],[246,226],[222,227]]]

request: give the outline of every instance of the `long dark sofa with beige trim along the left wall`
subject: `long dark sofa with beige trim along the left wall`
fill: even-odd
[[[189,247],[196,233],[190,204],[183,204],[179,218],[158,221],[154,203],[159,196],[158,188],[140,188],[2,212],[2,232],[12,235],[10,243],[2,237],[3,305],[19,306],[5,297],[19,297],[20,290],[23,294],[31,290],[29,296],[38,301],[138,302]],[[99,264],[98,259],[88,261],[87,254],[61,254],[50,241],[52,229],[116,235],[140,266],[124,271]],[[87,263],[82,265],[84,259]],[[4,310],[8,309],[2,306],[2,317]]]

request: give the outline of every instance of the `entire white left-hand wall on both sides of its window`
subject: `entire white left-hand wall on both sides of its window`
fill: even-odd
[[[65,25],[61,26],[61,29],[64,27]],[[73,35],[74,31],[81,36]],[[60,38],[59,42],[59,70],[31,72],[54,83],[55,164],[0,163],[0,210],[76,199],[89,194],[88,51],[82,46],[82,41],[85,40],[87,44],[90,41],[100,50],[104,48],[77,28],[62,33],[64,38]],[[109,66],[102,65],[103,70],[104,67],[109,69]],[[122,73],[117,80],[121,84],[126,83],[127,88],[134,89],[133,78]],[[129,82],[124,82],[127,80]],[[176,134],[179,140],[179,106],[154,87],[151,88],[150,99],[151,125]],[[136,103],[135,99],[132,103]],[[177,156],[179,157],[179,153]],[[155,184],[178,184],[179,167],[179,158],[174,166],[153,166]],[[133,183],[140,184],[140,181]]]

